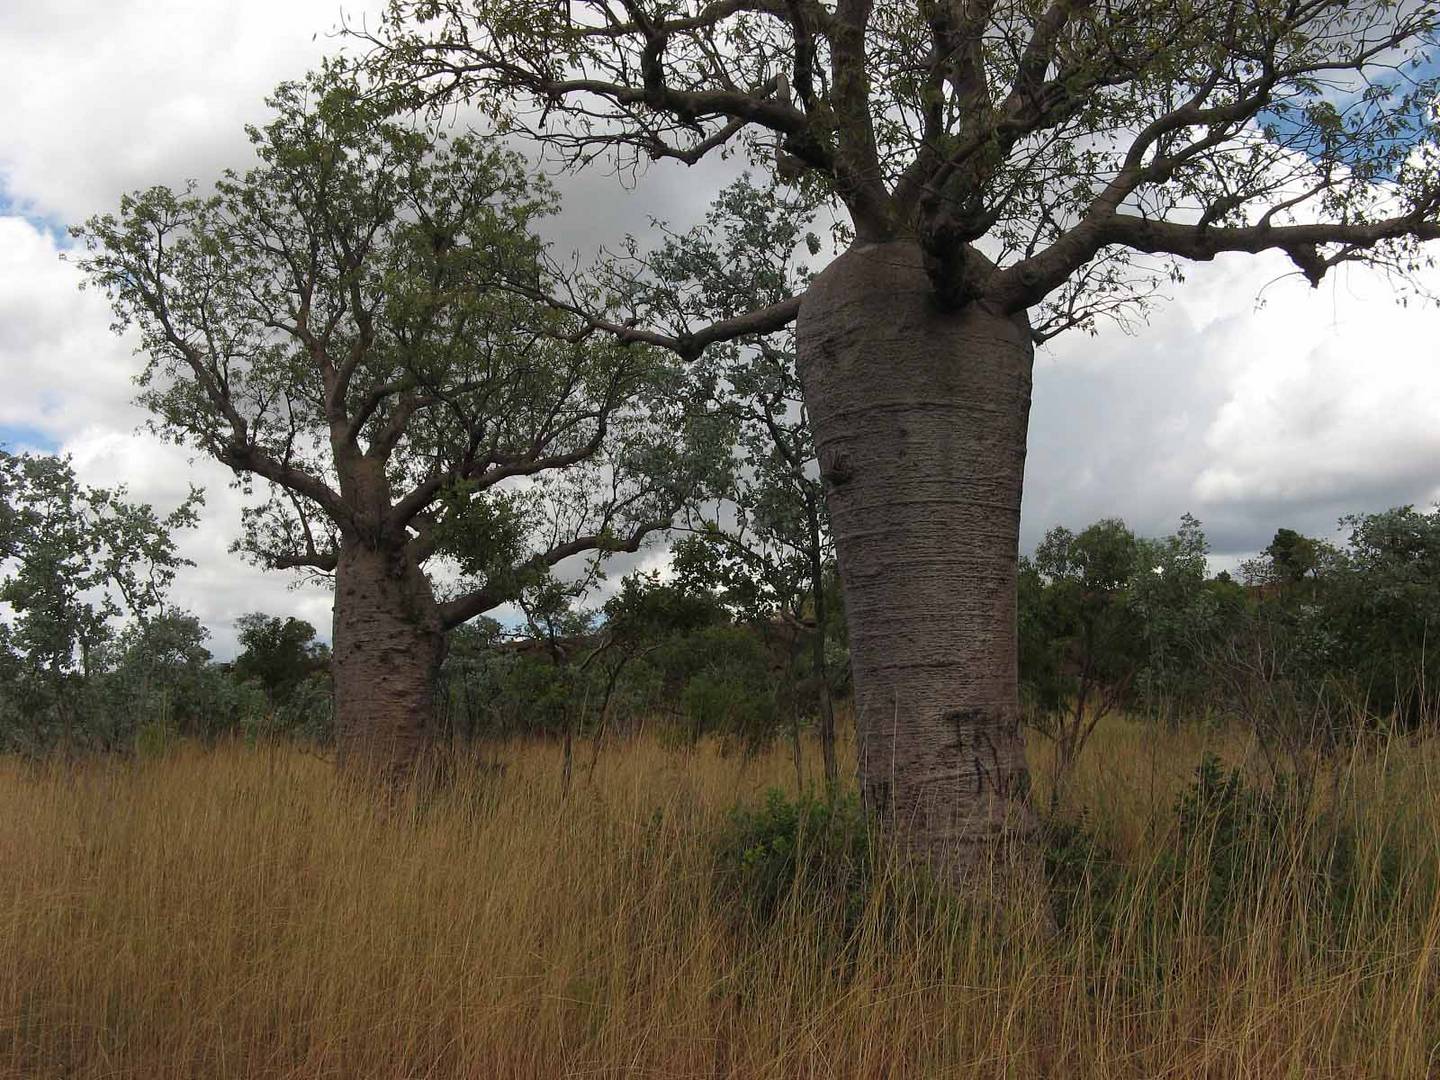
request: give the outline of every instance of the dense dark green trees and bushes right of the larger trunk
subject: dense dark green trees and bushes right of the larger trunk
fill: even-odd
[[[1171,721],[1230,716],[1292,772],[1303,750],[1344,743],[1365,723],[1428,723],[1440,510],[1342,524],[1339,547],[1280,528],[1243,567],[1246,586],[1210,577],[1189,516],[1159,540],[1113,520],[1051,530],[1020,563],[1028,719],[1060,733],[1115,707]]]

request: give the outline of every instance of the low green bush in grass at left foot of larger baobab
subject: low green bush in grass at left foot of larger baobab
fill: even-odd
[[[789,914],[848,933],[876,867],[876,838],[854,795],[791,799],[772,789],[759,806],[734,808],[714,840],[717,897],[752,927]]]

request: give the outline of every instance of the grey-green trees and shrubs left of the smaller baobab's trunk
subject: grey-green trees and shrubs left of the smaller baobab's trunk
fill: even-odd
[[[240,678],[216,665],[209,632],[168,606],[180,566],[177,534],[196,521],[199,492],[160,517],[130,503],[124,488],[88,488],[68,459],[0,451],[0,752],[55,749],[156,753],[177,737],[213,740],[259,730],[276,694],[294,697],[291,672],[249,671],[269,645],[308,642],[314,629],[248,616]],[[291,621],[294,622],[294,621]],[[300,645],[305,671],[324,667],[323,649]],[[266,694],[246,674],[274,677]],[[310,694],[295,704],[297,726],[321,714]],[[308,730],[308,729],[307,729]]]

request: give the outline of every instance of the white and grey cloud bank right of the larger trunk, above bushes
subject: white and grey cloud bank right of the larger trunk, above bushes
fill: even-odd
[[[1331,533],[1342,513],[1440,494],[1440,311],[1398,305],[1374,271],[1318,289],[1290,271],[1197,265],[1136,336],[1057,341],[1035,373],[1030,543],[1056,523],[1119,514],[1153,533],[1189,511],[1246,553],[1279,526]]]

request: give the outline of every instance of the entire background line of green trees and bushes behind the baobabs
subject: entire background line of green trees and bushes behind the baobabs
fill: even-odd
[[[760,361],[785,367],[778,354]],[[792,419],[788,431],[802,428]],[[174,537],[193,524],[199,492],[161,516],[124,490],[86,488],[66,459],[45,455],[0,452],[0,478],[6,750],[334,739],[330,654],[314,626],[245,615],[240,652],[222,664],[204,626],[170,602],[183,564]],[[576,740],[598,747],[642,730],[714,736],[740,753],[783,739],[801,776],[834,779],[824,755],[802,762],[799,747],[850,694],[847,631],[824,518],[816,556],[811,504],[792,481],[753,468],[726,516],[691,505],[671,572],[632,572],[598,606],[585,592],[593,582],[552,582],[524,590],[520,622],[456,631],[435,733],[564,740],[567,769],[585,765]],[[1165,537],[1117,518],[1051,528],[1020,562],[1020,674],[1025,721],[1054,740],[1060,775],[1115,713],[1241,724],[1292,772],[1367,727],[1433,724],[1440,510],[1341,524],[1342,543],[1280,528],[1236,575],[1210,573],[1189,516]]]

